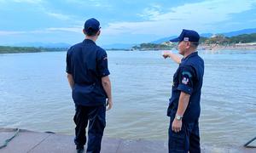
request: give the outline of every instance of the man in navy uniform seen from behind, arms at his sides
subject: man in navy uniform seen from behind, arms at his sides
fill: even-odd
[[[67,51],[66,71],[76,109],[73,117],[76,124],[74,143],[78,152],[84,152],[85,128],[88,122],[87,153],[100,152],[106,126],[106,106],[108,111],[113,105],[108,77],[108,56],[104,49],[96,45],[100,28],[98,20],[86,20],[84,41],[73,45]]]

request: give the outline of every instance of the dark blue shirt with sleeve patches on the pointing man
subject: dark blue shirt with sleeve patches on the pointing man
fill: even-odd
[[[195,122],[200,116],[201,87],[204,61],[197,52],[182,59],[173,76],[172,97],[169,99],[167,116],[175,116],[181,92],[190,94],[189,105],[183,114],[183,122]]]

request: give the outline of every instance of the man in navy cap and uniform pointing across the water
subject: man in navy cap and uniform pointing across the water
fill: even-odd
[[[179,37],[170,40],[178,42],[178,53],[183,59],[173,76],[172,97],[167,110],[167,116],[171,118],[169,153],[201,152],[198,120],[204,61],[196,51],[199,39],[196,31],[183,30]],[[169,57],[167,53],[163,56]]]

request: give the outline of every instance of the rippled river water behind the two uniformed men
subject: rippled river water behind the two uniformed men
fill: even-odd
[[[201,143],[241,145],[256,136],[256,51],[200,51],[205,60]],[[0,127],[73,134],[65,52],[0,54]],[[113,110],[105,136],[166,139],[172,75],[160,52],[108,52]]]

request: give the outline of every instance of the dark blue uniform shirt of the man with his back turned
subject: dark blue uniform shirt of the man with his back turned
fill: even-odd
[[[102,77],[108,76],[108,57],[104,49],[90,39],[67,51],[67,73],[73,76],[72,96],[77,105],[105,105],[107,94]]]

